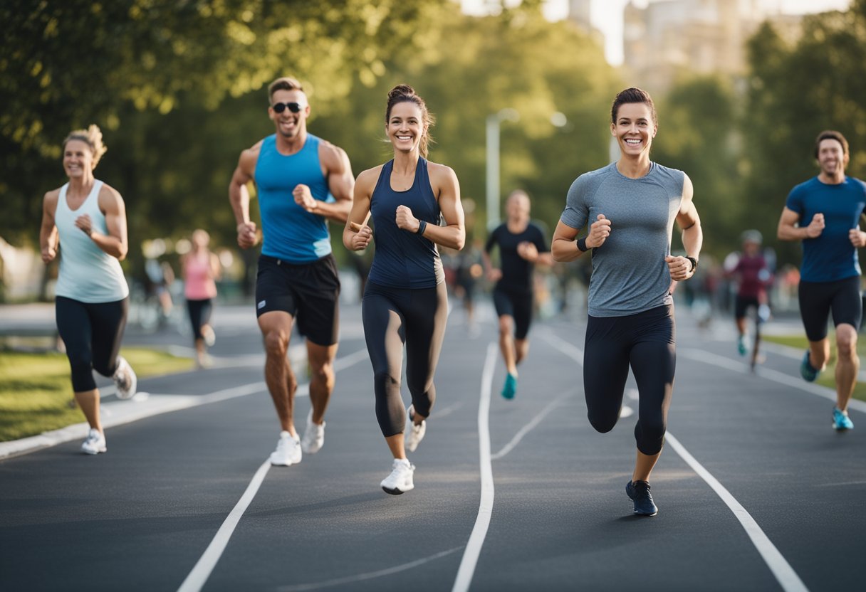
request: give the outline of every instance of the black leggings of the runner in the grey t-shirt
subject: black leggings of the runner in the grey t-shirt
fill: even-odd
[[[623,406],[629,366],[640,396],[635,426],[637,449],[662,451],[676,345],[674,307],[658,306],[626,317],[590,317],[586,324],[584,390],[590,423],[610,432]]]

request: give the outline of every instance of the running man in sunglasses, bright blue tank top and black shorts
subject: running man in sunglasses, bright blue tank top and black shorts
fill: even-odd
[[[325,410],[333,390],[337,354],[339,279],[327,221],[346,222],[354,177],[346,152],[307,132],[310,105],[301,83],[278,78],[268,86],[268,117],[275,134],[241,152],[229,183],[237,221],[237,244],[255,247],[249,220],[248,183],[255,182],[262,218],[262,254],[255,285],[255,312],[264,336],[265,379],[280,419],[273,465],[301,461],[325,441]],[[286,354],[297,320],[307,338],[310,402],[303,441],[294,429],[298,383]]]

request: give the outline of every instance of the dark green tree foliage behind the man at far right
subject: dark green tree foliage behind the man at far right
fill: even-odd
[[[776,234],[793,186],[818,174],[815,138],[843,132],[851,146],[846,171],[866,174],[866,2],[845,12],[807,16],[803,36],[786,44],[765,24],[748,45],[751,74],[744,115],[744,183],[753,226]],[[780,262],[798,262],[796,242],[779,244]]]

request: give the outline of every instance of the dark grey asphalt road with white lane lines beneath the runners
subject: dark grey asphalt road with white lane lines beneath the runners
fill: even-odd
[[[221,313],[215,368],[139,383],[202,404],[108,429],[107,454],[75,440],[0,461],[0,589],[863,589],[866,405],[837,434],[829,390],[785,351],[749,372],[727,325],[678,312],[659,513],[637,518],[637,392],[594,432],[579,319],[533,325],[506,401],[490,307],[478,335],[453,312],[416,487],[390,496],[359,307],[342,312],[325,447],[293,467],[266,463],[279,428],[252,311],[217,310],[218,329]],[[299,429],[308,408],[301,394]]]

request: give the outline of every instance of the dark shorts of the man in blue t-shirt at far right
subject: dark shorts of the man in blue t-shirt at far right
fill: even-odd
[[[863,299],[860,298],[860,276],[838,281],[800,281],[798,289],[800,317],[809,341],[827,337],[827,317],[833,314],[833,325],[853,325],[860,331]]]

